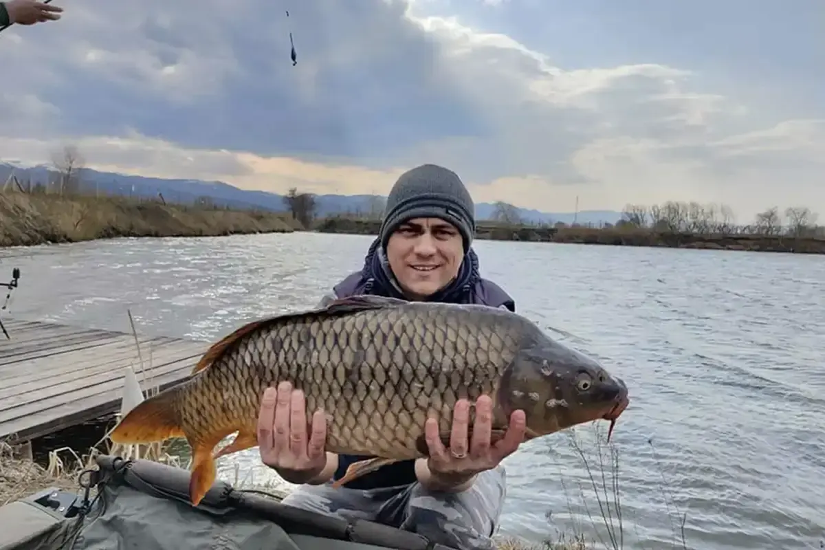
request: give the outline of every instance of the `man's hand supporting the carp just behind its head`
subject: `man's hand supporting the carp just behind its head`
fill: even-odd
[[[472,440],[468,441],[469,402],[460,399],[453,409],[450,448],[446,449],[438,432],[438,422],[430,418],[424,434],[430,458],[416,463],[416,474],[422,485],[443,491],[464,491],[480,472],[496,468],[504,458],[518,449],[524,440],[524,411],[510,416],[507,433],[496,444],[490,444],[493,425],[493,400],[483,395],[475,404]]]

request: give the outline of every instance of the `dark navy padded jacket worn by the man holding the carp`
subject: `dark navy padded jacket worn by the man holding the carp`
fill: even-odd
[[[361,270],[347,276],[332,288],[332,293],[325,296],[321,303],[328,303],[337,298],[347,298],[357,294],[375,294],[389,298],[404,299],[398,285],[389,270],[384,254],[379,248],[378,239],[370,245]],[[501,287],[492,281],[483,279],[479,274],[479,257],[470,248],[462,261],[459,274],[445,289],[431,296],[432,302],[443,303],[478,303],[493,308],[507,308],[516,311],[516,302]],[[363,460],[363,457],[342,454],[338,457],[338,469],[334,478],[339,479],[347,472],[351,463]],[[347,483],[351,489],[373,489],[377,487],[394,487],[416,482],[415,461],[405,460],[389,464],[363,477]]]

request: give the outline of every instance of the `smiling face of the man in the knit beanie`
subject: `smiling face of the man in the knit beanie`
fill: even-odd
[[[389,267],[413,300],[426,299],[455,279],[463,259],[461,233],[443,219],[408,220],[387,242]]]

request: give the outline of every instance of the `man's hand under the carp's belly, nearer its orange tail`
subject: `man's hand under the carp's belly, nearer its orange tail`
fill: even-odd
[[[327,417],[315,411],[307,438],[304,392],[282,382],[266,388],[258,415],[257,438],[261,459],[290,483],[323,483],[332,477],[337,456],[324,452]],[[328,459],[330,458],[330,459]]]

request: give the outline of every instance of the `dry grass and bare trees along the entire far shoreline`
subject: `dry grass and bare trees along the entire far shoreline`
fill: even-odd
[[[69,155],[70,156],[70,155]],[[99,195],[79,185],[77,171],[59,185],[6,186],[0,192],[0,247],[78,242],[109,237],[217,237],[248,233],[377,235],[385,198],[365,212],[318,217],[315,195],[293,188],[284,212],[219,205],[209,196],[191,204],[163,195]],[[667,201],[627,204],[617,223],[531,223],[512,204],[497,202],[493,219],[477,222],[480,240],[825,254],[825,226],[807,207],[771,207],[751,224],[734,223],[725,204]]]

